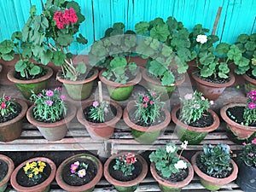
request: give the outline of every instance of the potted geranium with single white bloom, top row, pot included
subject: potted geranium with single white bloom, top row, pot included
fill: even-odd
[[[192,72],[197,89],[209,100],[216,100],[224,89],[235,82],[226,62],[219,61],[214,54],[213,44],[218,42],[218,36],[206,35],[209,30],[201,24],[195,25],[190,33],[191,49],[196,52],[195,67]]]

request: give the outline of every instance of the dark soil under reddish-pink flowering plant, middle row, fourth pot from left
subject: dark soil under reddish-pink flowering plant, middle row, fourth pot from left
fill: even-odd
[[[129,112],[129,119],[131,119],[131,121],[139,126],[154,126],[154,125],[159,125],[161,122],[163,122],[166,119],[166,115],[165,113],[161,112],[160,113],[160,117],[155,119],[155,121],[153,123],[149,123],[146,124],[145,122],[143,122],[139,117],[135,117],[135,111],[136,108],[131,108],[131,111]]]

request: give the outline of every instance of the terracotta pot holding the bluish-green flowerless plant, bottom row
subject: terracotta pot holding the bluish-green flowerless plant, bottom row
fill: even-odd
[[[204,172],[201,172],[201,170],[196,166],[196,157],[201,154],[201,151],[196,152],[191,159],[191,164],[194,168],[195,173],[200,177],[201,184],[208,190],[218,190],[220,189],[224,184],[230,183],[234,181],[237,177],[238,167],[236,166],[236,163],[234,160],[231,160],[231,164],[233,166],[233,172],[230,174],[229,177],[224,178],[217,178],[217,177],[210,177]]]

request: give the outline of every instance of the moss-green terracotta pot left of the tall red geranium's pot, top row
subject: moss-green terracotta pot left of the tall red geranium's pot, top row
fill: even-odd
[[[47,88],[48,79],[52,76],[53,71],[50,67],[47,67],[47,66],[43,66],[43,67],[48,70],[48,73],[38,79],[32,79],[32,80],[16,79],[14,76],[15,69],[12,69],[7,73],[7,78],[11,82],[15,83],[15,85],[20,90],[22,96],[24,96],[26,99],[29,99],[30,96],[32,95],[32,92],[31,92],[32,90],[36,94],[38,94],[41,90],[44,90]]]

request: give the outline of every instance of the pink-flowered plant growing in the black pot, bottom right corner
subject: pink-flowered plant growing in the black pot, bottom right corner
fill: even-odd
[[[241,160],[247,166],[256,167],[256,138],[251,143],[242,143],[243,148],[241,154],[239,154]]]

